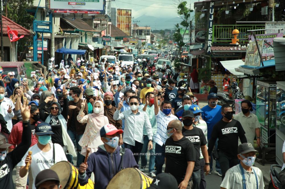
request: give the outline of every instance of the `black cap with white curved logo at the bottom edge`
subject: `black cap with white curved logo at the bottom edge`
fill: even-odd
[[[160,173],[152,180],[148,189],[177,189],[178,183],[170,173]]]

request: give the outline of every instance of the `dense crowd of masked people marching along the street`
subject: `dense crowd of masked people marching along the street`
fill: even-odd
[[[150,188],[205,189],[215,159],[221,188],[239,188],[244,175],[248,186],[264,188],[262,172],[252,167],[260,126],[251,103],[244,100],[233,118],[231,106],[217,105],[217,94],[209,93],[200,108],[191,91],[198,81],[188,82],[196,69],[188,77],[180,70],[145,73],[149,66],[78,58],[59,68],[49,60],[48,71],[32,79],[21,79],[24,70],[16,78],[1,75],[1,187],[60,188],[49,168],[76,157],[81,186],[91,178],[95,188],[106,188],[116,173],[135,167],[154,178]]]

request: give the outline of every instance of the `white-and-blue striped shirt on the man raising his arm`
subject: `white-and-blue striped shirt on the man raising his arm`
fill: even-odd
[[[157,131],[156,135],[154,135],[154,142],[162,146],[168,138],[166,135],[168,123],[174,119],[178,120],[178,118],[172,114],[166,116],[162,111],[159,111],[155,117],[157,121]]]

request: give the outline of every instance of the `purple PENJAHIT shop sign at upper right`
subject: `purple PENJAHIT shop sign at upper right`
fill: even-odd
[[[255,35],[257,41],[264,40],[273,46],[273,39],[275,37],[283,37],[283,33],[269,33],[269,34],[259,34]],[[253,35],[249,36],[249,40],[255,41]],[[274,49],[267,43],[263,43],[262,55],[261,56],[274,56]]]

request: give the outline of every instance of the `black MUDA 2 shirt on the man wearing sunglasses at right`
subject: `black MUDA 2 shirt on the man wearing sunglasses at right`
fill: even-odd
[[[245,131],[241,126],[241,123],[235,119],[231,122],[225,122],[221,119],[213,127],[211,139],[208,144],[208,153],[211,154],[210,150],[213,150],[213,141],[218,140],[218,151],[224,152],[230,157],[237,157],[237,147],[239,138],[241,143],[247,142],[245,138]]]

